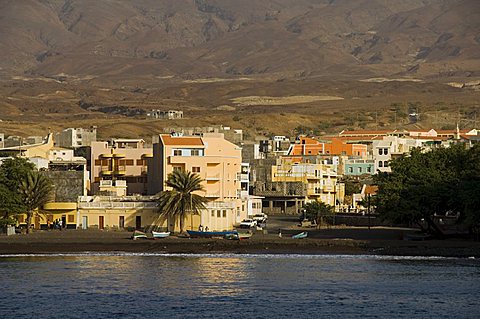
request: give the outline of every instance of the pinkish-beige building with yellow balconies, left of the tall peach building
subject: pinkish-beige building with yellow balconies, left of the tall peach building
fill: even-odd
[[[98,194],[101,185],[126,184],[126,194],[147,193],[147,161],[152,148],[142,139],[114,139],[92,142],[90,153],[91,193]],[[125,182],[123,182],[125,181]]]

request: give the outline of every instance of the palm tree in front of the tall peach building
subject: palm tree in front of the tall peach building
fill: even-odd
[[[172,190],[163,191],[158,199],[160,215],[174,221],[180,219],[180,233],[184,231],[184,222],[188,214],[199,214],[205,208],[207,199],[193,194],[202,191],[202,179],[197,174],[175,170],[168,174],[165,184]],[[173,227],[175,231],[175,226]]]

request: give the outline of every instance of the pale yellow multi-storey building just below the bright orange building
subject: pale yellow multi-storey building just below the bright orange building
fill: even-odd
[[[335,165],[302,163],[289,157],[282,157],[272,166],[272,182],[305,184],[307,202],[317,200],[336,206],[337,201],[343,201],[344,188],[338,184]]]

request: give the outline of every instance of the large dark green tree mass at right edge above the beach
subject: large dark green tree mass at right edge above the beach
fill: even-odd
[[[416,224],[439,237],[443,233],[434,216],[456,212],[460,221],[469,216],[469,222],[474,222],[480,203],[475,195],[480,188],[478,148],[467,150],[458,144],[429,152],[415,149],[393,160],[391,173],[375,177],[377,213],[393,222]]]

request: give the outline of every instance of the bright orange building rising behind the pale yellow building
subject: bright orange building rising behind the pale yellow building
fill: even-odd
[[[333,138],[331,143],[322,143],[310,137],[301,137],[300,144],[292,145],[289,155],[344,155],[367,156],[367,145],[347,144],[341,139]]]

